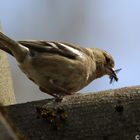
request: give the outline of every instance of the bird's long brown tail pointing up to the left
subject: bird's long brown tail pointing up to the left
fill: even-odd
[[[28,52],[27,48],[0,32],[0,49],[13,55],[18,62],[22,62]]]

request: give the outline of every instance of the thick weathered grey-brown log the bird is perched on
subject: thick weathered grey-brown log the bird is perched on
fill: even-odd
[[[27,139],[135,140],[140,135],[140,86],[67,97],[59,104],[67,118],[58,129],[36,114],[36,107],[50,101],[7,107],[12,122]]]

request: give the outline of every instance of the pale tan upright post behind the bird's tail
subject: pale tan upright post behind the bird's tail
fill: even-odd
[[[2,27],[0,24],[0,31]],[[10,105],[16,103],[10,66],[6,53],[0,50],[0,103],[3,105]]]

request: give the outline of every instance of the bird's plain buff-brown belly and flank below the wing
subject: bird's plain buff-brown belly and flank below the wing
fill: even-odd
[[[25,61],[21,70],[40,87],[56,86],[75,92],[87,84],[89,72],[85,60],[70,60],[63,57],[44,56]]]

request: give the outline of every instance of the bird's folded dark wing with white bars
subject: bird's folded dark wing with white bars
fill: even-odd
[[[61,42],[51,41],[18,41],[21,45],[29,48],[30,51],[47,52],[62,55],[71,59],[82,57],[84,49],[78,46]]]

